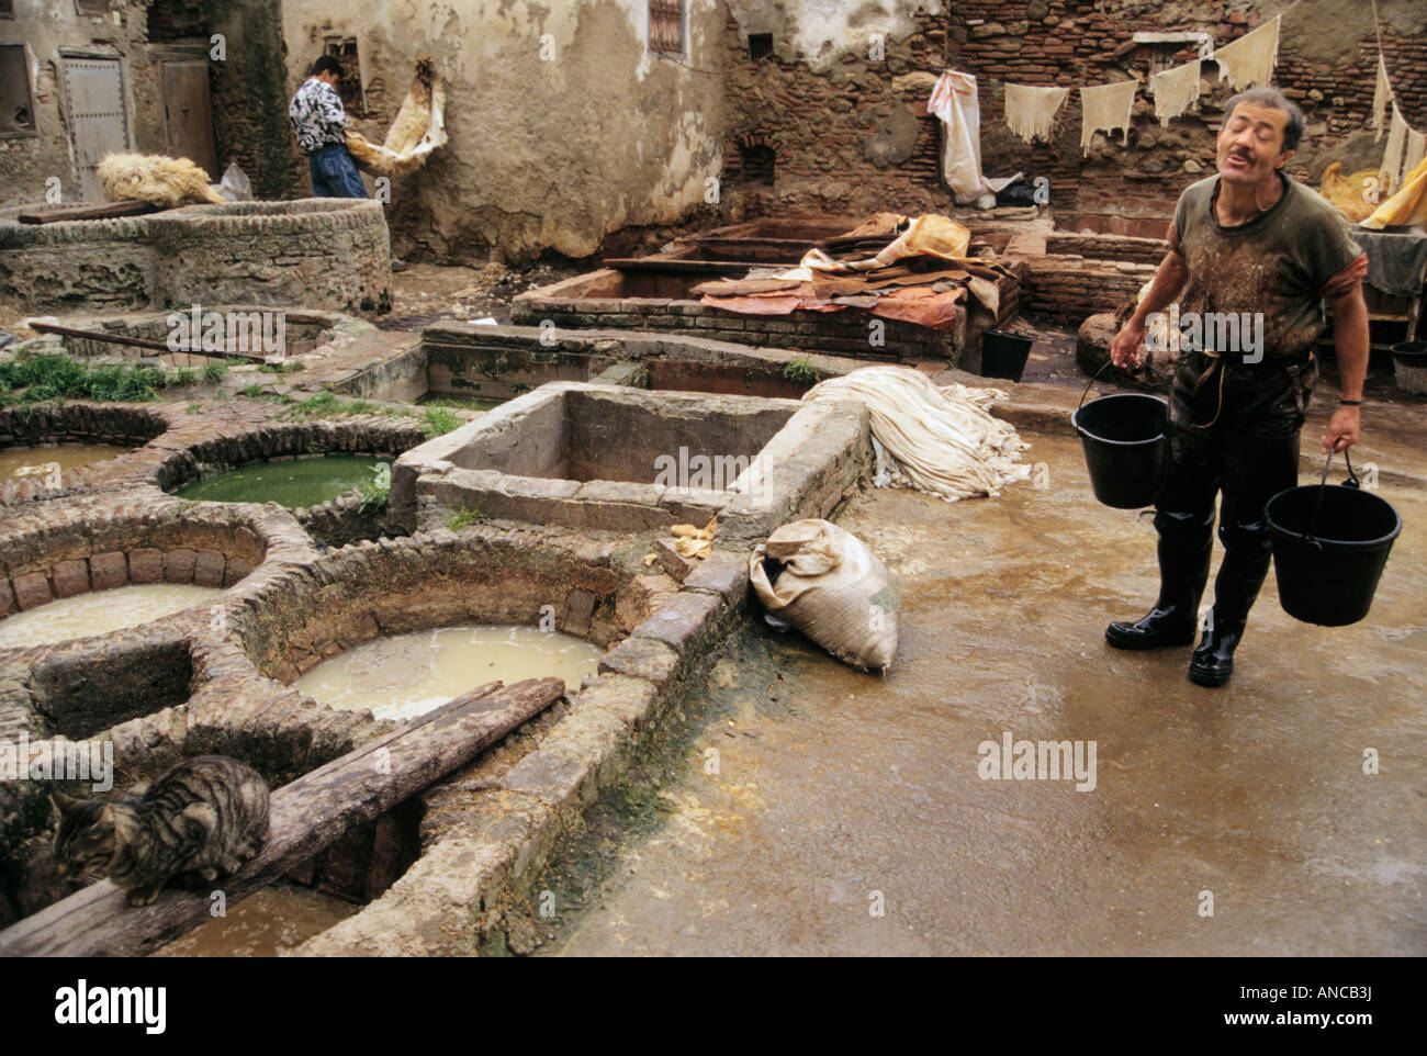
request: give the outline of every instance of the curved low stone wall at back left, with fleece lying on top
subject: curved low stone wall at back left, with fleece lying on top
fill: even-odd
[[[0,217],[0,298],[26,310],[247,303],[390,307],[387,223],[374,201],[188,205],[29,225]]]

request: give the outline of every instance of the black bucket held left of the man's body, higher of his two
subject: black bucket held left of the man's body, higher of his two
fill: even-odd
[[[1090,384],[1096,377],[1099,371]],[[1154,505],[1169,477],[1169,404],[1143,392],[1104,395],[1089,404],[1082,394],[1080,400],[1070,424],[1080,437],[1096,499],[1116,509]]]

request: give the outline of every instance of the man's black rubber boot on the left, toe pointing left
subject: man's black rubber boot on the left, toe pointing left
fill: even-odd
[[[1104,641],[1116,649],[1160,649],[1193,645],[1199,631],[1199,599],[1209,582],[1214,545],[1213,512],[1207,524],[1193,514],[1156,514],[1159,529],[1160,596],[1133,624],[1110,624]]]

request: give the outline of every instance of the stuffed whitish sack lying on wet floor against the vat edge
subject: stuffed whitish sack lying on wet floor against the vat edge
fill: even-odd
[[[892,666],[896,581],[858,537],[828,521],[785,524],[749,557],[748,574],[771,615],[838,659],[873,671]]]

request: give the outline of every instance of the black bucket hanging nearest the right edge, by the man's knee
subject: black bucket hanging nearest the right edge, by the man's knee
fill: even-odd
[[[1346,626],[1366,616],[1403,529],[1391,502],[1350,479],[1354,487],[1326,484],[1324,465],[1324,482],[1280,491],[1264,507],[1279,604],[1306,624]]]

